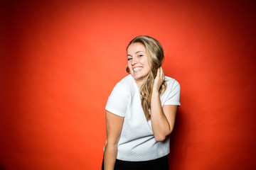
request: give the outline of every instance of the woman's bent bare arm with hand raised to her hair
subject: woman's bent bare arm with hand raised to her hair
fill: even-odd
[[[161,107],[159,88],[164,81],[164,71],[159,67],[154,81],[151,96],[151,125],[156,141],[163,141],[174,129],[174,121],[178,106]]]

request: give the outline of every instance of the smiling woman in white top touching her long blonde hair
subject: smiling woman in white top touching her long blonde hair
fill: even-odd
[[[164,50],[149,36],[127,47],[127,72],[106,106],[102,169],[169,169],[169,135],[180,106],[180,86],[164,76]]]

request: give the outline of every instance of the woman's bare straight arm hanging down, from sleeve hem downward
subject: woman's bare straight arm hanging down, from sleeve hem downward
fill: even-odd
[[[105,142],[104,169],[113,170],[117,159],[117,143],[122,131],[124,118],[106,111],[107,140]]]

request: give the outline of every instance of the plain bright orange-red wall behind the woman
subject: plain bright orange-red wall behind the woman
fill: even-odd
[[[126,47],[181,84],[171,169],[256,169],[255,1],[1,1],[1,169],[100,169]]]

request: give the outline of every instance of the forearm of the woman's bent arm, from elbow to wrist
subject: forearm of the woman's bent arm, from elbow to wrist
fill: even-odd
[[[151,96],[151,125],[156,141],[162,141],[171,133],[171,127],[164,115],[159,91],[153,90]]]

